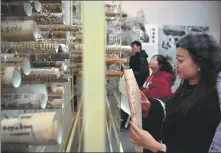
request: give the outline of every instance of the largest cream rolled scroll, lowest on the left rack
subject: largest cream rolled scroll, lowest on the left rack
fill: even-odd
[[[55,145],[62,142],[62,128],[55,112],[22,114],[1,121],[2,143]]]

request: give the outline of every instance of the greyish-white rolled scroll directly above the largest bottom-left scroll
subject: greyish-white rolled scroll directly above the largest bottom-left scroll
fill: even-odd
[[[15,98],[13,102],[18,103],[15,107],[18,107],[19,103],[21,102],[24,104],[22,105],[22,107],[27,108],[28,106],[32,106],[33,108],[35,107],[45,108],[46,103],[48,101],[48,92],[47,92],[47,88],[45,84],[36,84],[36,85],[28,84],[28,85],[21,85],[18,88],[4,88],[2,89],[2,93],[3,93],[2,94],[3,96],[4,96],[4,93],[5,94],[7,93],[6,95],[15,94],[14,95]],[[9,101],[9,100],[6,99],[6,101]]]

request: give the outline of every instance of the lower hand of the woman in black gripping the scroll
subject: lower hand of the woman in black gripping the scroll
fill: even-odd
[[[149,132],[139,129],[132,122],[130,122],[130,141],[133,144],[143,146],[152,152],[159,152],[162,147],[162,145],[157,142]]]

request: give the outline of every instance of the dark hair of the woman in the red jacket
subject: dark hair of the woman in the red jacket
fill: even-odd
[[[169,62],[170,58],[164,57],[163,55],[154,55],[152,58],[154,57],[157,58],[158,64],[160,65],[160,69],[159,69],[160,71],[165,71],[173,75],[173,83],[174,83],[176,80],[176,76],[174,73],[174,69]]]

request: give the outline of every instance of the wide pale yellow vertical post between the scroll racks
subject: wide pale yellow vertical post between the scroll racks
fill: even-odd
[[[84,151],[105,152],[104,1],[83,2]],[[93,51],[91,51],[93,49]],[[96,55],[96,60],[94,56]],[[95,69],[96,68],[96,69]],[[96,73],[96,75],[94,75]],[[96,90],[95,90],[96,88]],[[96,106],[94,105],[96,103]],[[96,124],[95,124],[96,122]]]

